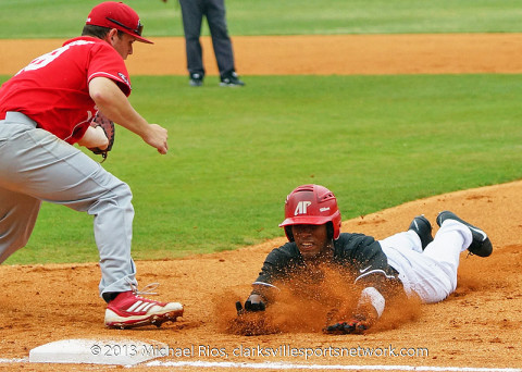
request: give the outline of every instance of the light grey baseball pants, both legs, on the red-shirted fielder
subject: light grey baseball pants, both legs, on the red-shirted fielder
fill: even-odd
[[[100,296],[129,290],[132,197],[125,183],[26,115],[9,112],[0,121],[0,263],[27,244],[41,201],[49,201],[95,216]]]

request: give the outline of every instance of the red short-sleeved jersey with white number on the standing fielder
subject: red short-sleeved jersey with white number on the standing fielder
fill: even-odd
[[[128,97],[130,82],[123,58],[107,41],[84,36],[38,57],[0,88],[0,120],[21,112],[70,144],[77,142],[96,114],[89,96],[95,77],[114,80]]]

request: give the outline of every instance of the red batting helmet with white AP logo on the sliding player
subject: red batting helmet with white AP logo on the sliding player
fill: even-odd
[[[339,237],[340,212],[334,193],[320,185],[302,185],[286,197],[285,221],[279,227],[285,227],[288,240],[294,241],[291,225],[323,224],[330,226],[334,239]]]

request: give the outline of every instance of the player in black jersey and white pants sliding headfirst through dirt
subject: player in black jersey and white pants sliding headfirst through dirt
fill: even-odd
[[[236,303],[238,315],[265,310],[276,301],[281,283],[291,289],[291,277],[321,278],[323,263],[348,271],[362,287],[352,313],[338,314],[326,324],[326,333],[363,333],[401,290],[426,303],[442,301],[457,287],[460,253],[468,249],[487,257],[493,246],[486,233],[450,211],[440,212],[436,222],[440,228],[435,238],[423,215],[415,216],[407,232],[378,241],[341,234],[334,194],[319,185],[299,186],[288,195],[279,224],[288,243],[269,253],[245,306]]]

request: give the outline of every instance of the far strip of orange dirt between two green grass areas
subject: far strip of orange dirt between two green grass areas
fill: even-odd
[[[182,37],[135,44],[130,75],[186,75]],[[0,40],[0,74],[14,74],[62,39]],[[233,36],[240,75],[522,73],[522,34]],[[209,75],[211,40],[202,38]]]

